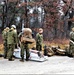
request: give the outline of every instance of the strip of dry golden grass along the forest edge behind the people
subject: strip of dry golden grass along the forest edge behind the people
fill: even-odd
[[[44,45],[60,46],[61,49],[65,49],[65,47],[69,46],[69,40],[60,40],[60,41],[52,41],[52,42],[44,41],[43,46]],[[33,47],[36,47],[36,43],[29,44],[29,48],[33,48]],[[42,49],[42,50],[44,50],[44,49]],[[0,44],[0,53],[3,53],[3,51],[4,51],[4,46],[3,46],[3,44]]]

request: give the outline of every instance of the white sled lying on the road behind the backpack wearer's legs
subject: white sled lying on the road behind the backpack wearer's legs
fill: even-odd
[[[18,48],[18,49],[15,49],[14,50],[14,56],[16,58],[21,58],[20,56],[20,51],[21,49]],[[41,52],[37,51],[37,50],[32,50],[30,49],[29,50],[29,53],[30,53],[30,57],[29,57],[29,60],[32,60],[32,61],[38,61],[38,62],[43,62],[43,61],[46,61],[48,60],[48,57],[47,56],[44,56]],[[24,52],[24,59],[26,59],[26,52]]]

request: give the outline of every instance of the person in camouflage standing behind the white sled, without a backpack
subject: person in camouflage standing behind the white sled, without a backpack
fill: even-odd
[[[38,51],[42,51],[42,43],[43,43],[43,29],[39,28],[39,32],[36,34],[36,49]]]

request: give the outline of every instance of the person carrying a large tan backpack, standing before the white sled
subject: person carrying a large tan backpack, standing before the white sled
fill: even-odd
[[[26,61],[29,60],[29,47],[28,44],[33,43],[35,40],[32,39],[32,30],[30,28],[25,28],[21,36],[21,60],[24,62],[24,52],[26,52]]]

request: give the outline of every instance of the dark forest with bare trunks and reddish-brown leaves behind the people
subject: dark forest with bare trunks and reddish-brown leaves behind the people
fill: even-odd
[[[1,0],[0,32],[15,24],[18,33],[29,27],[35,35],[38,28],[43,28],[45,41],[69,39],[68,19],[73,4],[74,0]]]

